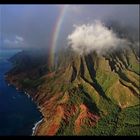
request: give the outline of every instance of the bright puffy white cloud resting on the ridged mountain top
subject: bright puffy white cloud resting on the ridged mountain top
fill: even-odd
[[[75,25],[75,30],[68,35],[68,45],[80,55],[88,54],[91,51],[105,53],[110,49],[125,47],[128,45],[126,39],[117,37],[100,21],[93,24]]]

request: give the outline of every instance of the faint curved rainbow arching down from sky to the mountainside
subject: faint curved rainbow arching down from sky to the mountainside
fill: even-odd
[[[61,6],[60,13],[56,19],[52,34],[51,34],[51,40],[49,45],[49,56],[48,56],[48,65],[51,67],[54,64],[55,61],[55,50],[57,47],[57,41],[59,37],[59,33],[64,21],[65,13],[67,10],[67,5]]]

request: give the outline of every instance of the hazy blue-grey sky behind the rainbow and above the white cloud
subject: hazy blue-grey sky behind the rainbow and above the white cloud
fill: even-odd
[[[48,47],[50,35],[61,5],[0,5],[0,47]],[[122,25],[139,28],[138,5],[69,5],[60,32],[58,46],[66,45],[66,38],[74,24],[88,24],[94,20],[115,20]]]

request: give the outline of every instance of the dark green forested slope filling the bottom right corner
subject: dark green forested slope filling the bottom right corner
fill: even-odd
[[[111,105],[112,106],[112,105]],[[110,107],[111,107],[110,106]],[[102,117],[95,127],[84,128],[81,135],[140,135],[140,105],[114,110]],[[113,109],[112,108],[112,109]]]

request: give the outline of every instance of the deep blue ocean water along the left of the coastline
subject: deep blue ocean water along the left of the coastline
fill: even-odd
[[[8,58],[17,51],[0,50],[0,135],[32,135],[34,124],[42,118],[32,99],[5,81],[12,67]]]

